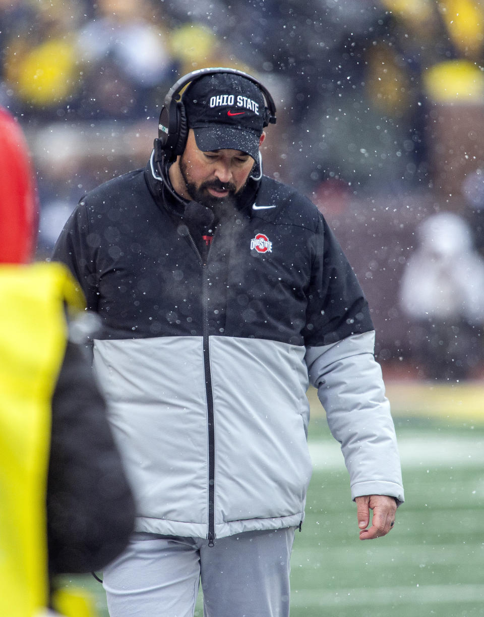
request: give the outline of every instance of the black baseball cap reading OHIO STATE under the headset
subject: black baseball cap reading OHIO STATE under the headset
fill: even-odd
[[[268,110],[253,81],[236,73],[205,75],[189,84],[183,104],[200,150],[240,150],[258,160]]]

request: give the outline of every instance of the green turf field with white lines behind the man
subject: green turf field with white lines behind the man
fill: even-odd
[[[291,561],[292,617],[484,616],[484,414],[404,418],[393,407],[406,503],[388,536],[365,542],[338,444],[314,413],[314,473]],[[87,586],[107,617],[94,579],[68,580]],[[200,602],[195,615],[202,617]]]

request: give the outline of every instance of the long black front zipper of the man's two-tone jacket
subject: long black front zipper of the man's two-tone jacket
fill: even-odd
[[[203,371],[205,373],[205,393],[207,394],[207,426],[208,426],[208,546],[213,547],[215,540],[215,425],[213,413],[213,391],[210,372],[210,349],[208,347],[208,277],[207,251],[203,257],[189,232],[189,238],[202,264],[202,353]]]

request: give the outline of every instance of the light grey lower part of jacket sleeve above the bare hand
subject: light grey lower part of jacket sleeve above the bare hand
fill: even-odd
[[[310,383],[350,473],[351,498],[390,495],[404,500],[390,404],[374,355],[374,331],[306,348]]]

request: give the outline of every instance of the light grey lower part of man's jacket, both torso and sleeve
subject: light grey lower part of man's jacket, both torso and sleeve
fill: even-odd
[[[307,350],[212,336],[210,362],[216,537],[303,520],[311,477],[306,363],[313,383],[321,383],[330,428],[342,442],[353,497],[377,492],[403,500],[395,433],[370,333]],[[137,530],[206,537],[202,338],[95,341],[94,365],[137,500]],[[242,377],[247,375],[250,382]]]

